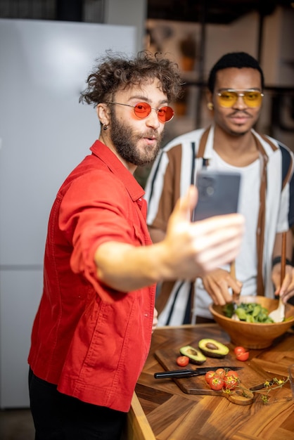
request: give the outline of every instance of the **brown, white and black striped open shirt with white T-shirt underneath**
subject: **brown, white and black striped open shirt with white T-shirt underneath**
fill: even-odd
[[[259,160],[247,167],[233,167],[224,162],[213,150],[214,127],[198,129],[178,136],[155,160],[146,183],[145,198],[148,202],[147,224],[166,231],[167,222],[179,197],[186,194],[188,186],[195,182],[198,170],[207,163],[207,169],[238,170],[243,175],[239,212],[245,216],[246,231],[241,252],[236,258],[236,278],[243,283],[242,295],[256,295],[258,243],[256,233],[258,223],[262,175],[264,185],[264,231],[260,237],[260,272],[265,295],[273,297],[271,283],[271,258],[276,233],[287,231],[294,224],[293,200],[293,153],[274,138],[261,136],[252,130],[260,152]],[[204,140],[203,140],[204,139]],[[201,143],[203,155],[197,157]],[[200,147],[200,148],[199,148]],[[266,188],[265,188],[266,187]],[[257,234],[258,235],[258,234]],[[229,266],[223,266],[229,270]],[[264,295],[258,292],[258,295]],[[191,321],[192,315],[211,318],[208,305],[211,297],[203,288],[202,280],[196,283],[185,280],[162,283],[157,297],[159,325],[181,325]]]

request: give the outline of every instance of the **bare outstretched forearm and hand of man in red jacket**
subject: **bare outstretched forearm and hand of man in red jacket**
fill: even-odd
[[[229,214],[192,223],[196,201],[197,190],[191,186],[177,202],[165,238],[154,245],[100,245],[95,253],[98,279],[129,292],[163,280],[192,280],[232,261],[241,247],[243,216]]]

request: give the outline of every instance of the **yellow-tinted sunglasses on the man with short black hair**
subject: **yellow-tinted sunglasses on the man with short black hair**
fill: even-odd
[[[255,108],[261,105],[264,94],[258,90],[225,89],[217,93],[217,100],[221,107],[230,108],[236,104],[239,96],[243,98],[245,105]]]

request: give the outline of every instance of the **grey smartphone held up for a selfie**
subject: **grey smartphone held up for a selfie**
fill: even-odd
[[[198,203],[193,221],[238,212],[241,174],[207,169],[198,172],[196,179]]]

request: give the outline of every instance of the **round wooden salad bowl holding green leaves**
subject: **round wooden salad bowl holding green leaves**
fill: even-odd
[[[271,299],[261,296],[244,296],[241,302],[256,302],[265,307],[269,313],[279,305],[278,299]],[[231,342],[241,345],[247,349],[265,349],[273,344],[274,339],[286,333],[294,325],[294,306],[286,304],[285,318],[287,321],[281,323],[246,323],[245,321],[235,321],[224,316],[223,306],[210,304],[210,313],[213,318],[231,337]]]

